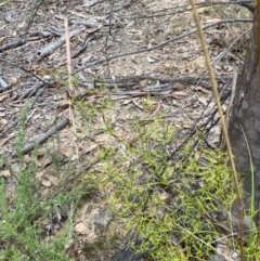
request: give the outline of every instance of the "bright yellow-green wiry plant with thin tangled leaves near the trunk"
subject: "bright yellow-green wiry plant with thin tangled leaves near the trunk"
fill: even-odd
[[[116,136],[107,121],[108,133]],[[148,251],[155,260],[205,260],[213,252],[211,244],[218,235],[207,217],[235,198],[226,155],[191,154],[188,144],[182,152],[186,160],[170,162],[164,147],[174,129],[160,121],[134,122],[134,144],[119,141],[123,149],[106,158],[100,184],[109,187],[108,205],[121,232],[134,230],[142,238],[139,247],[132,246],[135,251]],[[207,164],[202,166],[196,155]]]

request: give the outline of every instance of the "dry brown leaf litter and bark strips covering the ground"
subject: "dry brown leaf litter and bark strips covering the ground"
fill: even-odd
[[[92,172],[100,174],[105,167],[96,159],[100,148],[113,147],[123,154],[126,147],[118,141],[128,144],[136,141],[138,138],[132,136],[133,129],[129,122],[136,120],[150,125],[156,117],[164,115],[161,125],[174,126],[185,136],[185,130],[194,128],[194,122],[204,110],[205,115],[210,115],[214,109],[210,82],[205,76],[205,62],[198,37],[192,34],[159,48],[153,48],[195,28],[191,11],[185,11],[188,9],[186,1],[168,0],[113,3],[46,1],[39,6],[34,1],[2,4],[1,154],[8,158],[15,154],[13,138],[18,128],[18,114],[26,103],[29,102],[25,126],[27,146],[34,143],[36,138],[48,133],[55,122],[68,117],[63,25],[65,13],[70,27],[72,66],[77,78],[75,88],[81,103],[75,104],[76,143],[80,158],[75,155],[72,142],[75,138],[72,136],[68,127],[64,126],[55,133],[51,133],[51,136],[40,145],[37,160],[38,179],[44,191],[43,195],[52,194],[55,187],[63,184],[64,179],[67,182],[65,192],[70,190],[69,186],[77,186],[78,181],[74,178],[73,169],[67,170],[68,161],[79,172],[80,169],[91,168],[91,161],[96,161],[92,166]],[[25,10],[35,14],[28,17]],[[229,18],[227,11],[216,11],[210,14],[207,12],[207,8],[200,9],[204,25]],[[211,60],[218,58],[219,54],[229,49],[232,41],[239,39],[242,31],[246,29],[245,24],[223,24],[221,29],[213,26],[206,30]],[[236,50],[244,50],[243,41],[237,40],[236,48],[229,50],[229,55],[216,63],[214,71],[220,89],[232,78],[232,66],[242,65],[240,57],[244,51],[237,54]],[[151,51],[140,51],[145,49]],[[123,53],[128,55],[120,56]],[[113,56],[117,58],[110,58]],[[107,86],[108,89],[102,86]],[[105,117],[102,117],[96,112],[102,112],[107,96],[113,101],[113,106],[107,105]],[[104,118],[109,121],[116,136],[103,131],[107,128]],[[199,123],[206,121],[207,118]],[[174,152],[183,139],[180,135],[179,141],[174,139],[168,143],[168,152]],[[210,129],[207,141],[212,147],[217,147],[219,139],[220,127],[217,125]],[[58,157],[55,155],[57,151]],[[30,153],[25,151],[25,154]],[[30,157],[25,164],[28,165]],[[60,175],[55,173],[52,164],[54,161],[61,168]],[[126,161],[126,168],[131,165],[130,161]],[[10,162],[15,165],[15,160]],[[69,171],[72,172],[67,173]],[[0,173],[12,186],[10,171],[3,168]],[[83,175],[81,179],[88,180]],[[108,185],[99,190],[95,199],[88,198],[80,203],[75,213],[74,231],[79,236],[79,244],[75,243],[73,246],[82,246],[83,242],[92,242],[100,235],[95,221],[102,209],[107,206],[104,198],[106,190],[110,188]],[[10,192],[14,191],[10,187]],[[12,193],[8,193],[10,197]],[[166,192],[161,193],[160,197],[162,200],[170,200]],[[78,256],[77,260],[80,260]]]

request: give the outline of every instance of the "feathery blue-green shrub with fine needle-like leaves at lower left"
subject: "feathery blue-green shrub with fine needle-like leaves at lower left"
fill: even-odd
[[[65,226],[54,237],[48,239],[47,232],[40,226],[40,221],[54,212],[55,206],[73,204],[77,206],[81,192],[77,194],[72,190],[66,195],[63,191],[46,198],[40,193],[40,182],[36,179],[37,149],[32,153],[28,166],[24,162],[22,148],[25,139],[25,122],[28,106],[21,113],[20,129],[16,133],[17,171],[0,184],[0,260],[70,260],[66,253],[66,246],[72,234]],[[9,166],[6,159],[1,157],[1,165]],[[1,172],[1,171],[0,171]],[[10,195],[10,185],[13,193]],[[9,196],[8,196],[9,195]],[[70,211],[74,214],[75,208]],[[72,217],[70,217],[72,218]],[[64,240],[64,238],[67,238]]]

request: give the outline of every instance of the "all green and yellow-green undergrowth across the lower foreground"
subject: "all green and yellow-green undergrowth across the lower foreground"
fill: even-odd
[[[108,90],[104,88],[102,92]],[[142,101],[147,112],[152,108],[148,100]],[[178,131],[164,113],[153,120],[143,115],[115,120],[113,108],[109,95],[98,102],[75,103],[76,121],[88,115],[81,134],[103,133],[107,140],[95,149],[96,164],[78,175],[69,190],[65,190],[66,173],[58,173],[62,172],[58,160],[51,157],[56,175],[63,179],[48,196],[41,193],[41,184],[35,178],[38,149],[29,165],[21,154],[27,108],[22,112],[16,133],[17,171],[12,171],[1,157],[1,166],[10,168],[12,174],[1,178],[0,260],[74,260],[69,253],[73,242],[77,240],[74,213],[82,195],[90,195],[96,187],[114,218],[104,240],[100,237],[82,246],[87,256],[91,252],[91,259],[96,252],[101,257],[112,251],[107,244],[115,234],[148,260],[208,260],[212,255],[223,255],[218,252],[219,243],[237,251],[238,231],[226,221],[236,198],[226,155],[207,148],[199,129],[174,153],[188,133]],[[6,196],[10,183],[14,192]],[[47,231],[46,221],[62,209],[67,213],[64,220],[52,221],[60,222],[60,227],[50,222]],[[216,217],[223,217],[226,222]],[[131,235],[140,244],[129,240]],[[257,234],[245,243],[245,252],[248,260],[259,259]]]

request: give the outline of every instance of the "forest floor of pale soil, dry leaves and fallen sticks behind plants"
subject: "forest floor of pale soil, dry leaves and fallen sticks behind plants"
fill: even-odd
[[[251,14],[224,2],[197,2],[197,8],[225,110],[233,73],[243,65]],[[114,255],[112,232],[122,229],[115,214],[107,213],[110,204],[122,208],[116,196],[108,196],[116,179],[112,166],[128,174],[135,173],[133,165],[146,168],[145,160],[129,159],[126,151],[148,147],[155,157],[153,149],[158,148],[170,157],[194,130],[205,134],[208,147],[220,146],[221,129],[190,2],[1,0],[0,9],[0,175],[5,201],[15,209],[20,173],[34,173],[29,182],[37,183],[37,203],[53,199],[46,213],[31,221],[44,231],[42,240],[70,227],[70,234],[65,233],[68,259],[108,260]],[[65,17],[73,34],[73,94]],[[158,194],[169,199],[169,192]],[[115,248],[122,246],[123,236],[126,231],[117,234]],[[0,251],[5,255],[10,245],[0,240]],[[23,247],[20,252],[27,255]],[[10,260],[4,257],[1,260]]]

